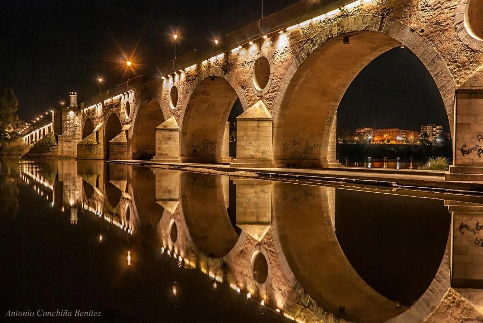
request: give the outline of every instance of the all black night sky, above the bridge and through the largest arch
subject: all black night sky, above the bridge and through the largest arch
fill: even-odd
[[[264,15],[297,1],[265,0]],[[1,1],[0,86],[14,89],[19,117],[28,120],[67,101],[72,90],[79,102],[97,95],[99,77],[103,91],[125,82],[122,52],[135,52],[136,75],[151,73],[172,58],[173,31],[180,35],[177,56],[203,51],[260,12],[261,0]],[[429,73],[408,50],[380,56],[344,96],[339,128],[449,128],[437,88],[427,81]]]

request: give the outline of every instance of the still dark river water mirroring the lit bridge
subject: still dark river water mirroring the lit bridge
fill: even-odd
[[[473,239],[472,219],[463,219],[468,228],[454,219],[459,229],[451,230],[449,208],[483,203],[103,161],[0,160],[0,167],[2,313],[34,316],[385,322],[413,315],[428,290],[439,303],[450,286],[453,232]],[[455,272],[467,263],[453,265],[459,283],[478,282],[466,269]],[[408,317],[400,322],[421,322]]]

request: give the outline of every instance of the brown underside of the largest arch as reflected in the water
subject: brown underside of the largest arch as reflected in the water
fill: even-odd
[[[396,307],[372,289],[345,257],[334,231],[331,189],[274,186],[277,240],[290,267],[292,285],[301,285],[322,309],[351,322],[384,322],[398,316],[406,308]]]

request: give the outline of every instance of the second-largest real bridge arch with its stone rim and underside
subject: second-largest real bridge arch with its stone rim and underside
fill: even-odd
[[[237,98],[243,111],[247,110],[245,93],[227,70],[211,67],[199,74],[177,108],[182,120],[180,153],[185,161],[222,161],[228,140],[226,123]]]

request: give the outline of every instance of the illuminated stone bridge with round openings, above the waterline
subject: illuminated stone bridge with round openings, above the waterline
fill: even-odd
[[[178,57],[157,78],[130,81],[81,104],[72,115],[77,146],[62,154],[337,167],[343,94],[374,58],[405,46],[440,91],[454,137],[448,175],[461,179],[460,166],[483,166],[476,147],[483,112],[473,108],[483,102],[482,16],[482,0],[301,0],[228,34],[217,51]],[[227,119],[237,100],[235,141]],[[236,142],[231,155],[230,141]],[[475,152],[461,155],[463,146]]]

